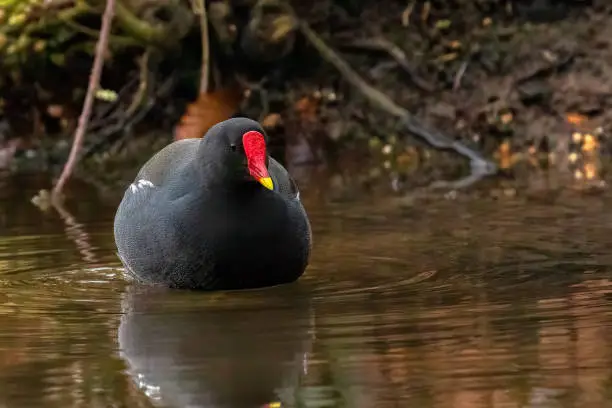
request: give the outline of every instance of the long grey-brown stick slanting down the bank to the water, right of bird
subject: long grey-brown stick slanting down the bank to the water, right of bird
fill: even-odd
[[[464,188],[485,176],[496,173],[497,166],[493,162],[485,159],[480,153],[467,147],[463,143],[450,139],[436,130],[429,129],[408,110],[399,106],[387,95],[368,84],[336,53],[336,51],[329,47],[306,22],[300,22],[300,30],[306,39],[317,49],[321,57],[332,64],[340,74],[342,74],[344,79],[359,90],[374,106],[400,119],[410,133],[418,136],[430,146],[440,150],[453,150],[470,160],[471,175],[455,183],[446,183],[444,186]],[[436,184],[438,187],[441,185],[441,183]]]

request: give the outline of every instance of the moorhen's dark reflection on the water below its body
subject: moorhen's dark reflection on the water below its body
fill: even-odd
[[[132,286],[122,311],[121,356],[156,404],[295,404],[314,329],[299,288],[210,295]]]

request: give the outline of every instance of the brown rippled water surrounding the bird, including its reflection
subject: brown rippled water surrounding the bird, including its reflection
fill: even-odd
[[[300,282],[205,294],[0,184],[0,407],[612,406],[612,195],[311,204]]]

